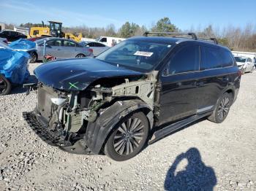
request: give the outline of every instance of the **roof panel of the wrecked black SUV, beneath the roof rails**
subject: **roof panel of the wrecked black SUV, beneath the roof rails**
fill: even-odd
[[[189,38],[176,38],[176,37],[169,37],[169,36],[134,36],[129,39],[136,39],[136,40],[141,40],[141,41],[146,41],[146,42],[159,42],[159,43],[165,43],[165,44],[179,44],[181,42],[199,42],[200,44],[205,44],[205,45],[214,45],[217,47],[222,47],[227,50],[229,50],[227,47],[224,47],[220,44],[214,44],[213,42],[209,42],[207,40],[203,39],[189,39]],[[129,40],[127,39],[127,40]]]

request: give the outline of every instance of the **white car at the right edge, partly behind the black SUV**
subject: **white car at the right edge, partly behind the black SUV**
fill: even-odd
[[[243,56],[235,56],[236,63],[242,73],[252,72],[255,69],[255,63],[253,63],[251,58],[246,58]]]

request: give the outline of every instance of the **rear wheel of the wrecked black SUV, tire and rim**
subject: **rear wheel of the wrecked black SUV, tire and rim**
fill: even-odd
[[[217,101],[214,112],[208,117],[208,120],[216,123],[223,122],[230,111],[232,100],[232,95],[230,95],[230,93],[224,93]]]

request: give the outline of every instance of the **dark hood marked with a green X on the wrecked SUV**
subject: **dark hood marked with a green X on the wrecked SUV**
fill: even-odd
[[[142,75],[138,71],[113,66],[95,58],[74,58],[44,63],[34,70],[39,82],[59,90],[85,90],[105,77]]]

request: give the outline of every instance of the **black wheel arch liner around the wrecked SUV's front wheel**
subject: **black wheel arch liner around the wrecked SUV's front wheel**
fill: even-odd
[[[151,108],[139,99],[116,101],[113,105],[102,111],[102,114],[95,122],[89,122],[86,128],[84,140],[86,146],[98,154],[107,141],[110,133],[115,128],[116,124],[128,114],[134,112],[143,112],[148,119],[150,129],[153,128],[154,114]]]

